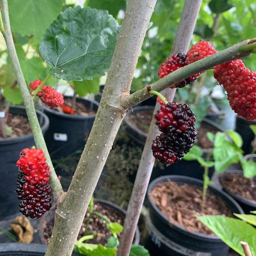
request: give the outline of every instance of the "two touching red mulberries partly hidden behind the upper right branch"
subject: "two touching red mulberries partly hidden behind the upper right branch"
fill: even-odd
[[[178,53],[172,55],[172,57],[166,59],[164,63],[161,64],[158,76],[163,78],[168,74],[172,73],[173,71],[179,69],[180,67],[184,67],[188,64],[191,64],[195,61],[201,60],[209,55],[216,53],[217,51],[213,48],[213,46],[207,41],[200,41],[185,54],[185,53]],[[170,88],[179,87],[182,88],[187,84],[195,81],[200,73],[196,73],[193,76],[190,76],[174,85],[171,85]]]

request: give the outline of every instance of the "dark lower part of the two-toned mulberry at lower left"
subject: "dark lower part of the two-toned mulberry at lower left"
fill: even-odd
[[[40,218],[52,206],[50,184],[31,184],[26,181],[22,171],[19,171],[16,192],[20,200],[20,212],[26,217]]]

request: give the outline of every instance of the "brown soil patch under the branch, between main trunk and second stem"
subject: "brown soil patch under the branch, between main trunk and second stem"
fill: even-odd
[[[131,113],[129,115],[129,121],[132,125],[137,127],[140,131],[148,134],[150,122],[153,115],[153,109],[148,109],[145,111],[140,111],[138,113]]]

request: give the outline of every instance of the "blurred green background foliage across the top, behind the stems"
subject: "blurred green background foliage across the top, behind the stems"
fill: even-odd
[[[160,64],[169,57],[172,42],[182,13],[185,0],[157,0],[151,22],[143,42],[140,58],[132,82],[131,91],[145,87],[156,81]],[[13,37],[27,83],[35,79],[44,79],[49,67],[40,56],[39,43],[45,30],[59,12],[77,4],[91,8],[106,9],[122,24],[127,0],[12,0],[9,1],[10,19]],[[20,8],[22,6],[22,8]],[[0,24],[0,29],[2,29]],[[256,37],[255,0],[203,0],[191,44],[201,39],[210,41],[215,49],[221,50],[240,41]],[[256,70],[256,55],[244,58],[251,70]],[[12,104],[21,104],[22,99],[10,65],[3,37],[0,38],[0,91]],[[105,77],[91,81],[73,82],[78,95],[96,94],[99,84]],[[64,81],[51,78],[51,86],[65,84]],[[212,70],[201,75],[198,81],[185,88],[178,89],[176,101],[187,102],[202,119],[207,111],[215,111],[215,103],[227,104],[226,96]]]

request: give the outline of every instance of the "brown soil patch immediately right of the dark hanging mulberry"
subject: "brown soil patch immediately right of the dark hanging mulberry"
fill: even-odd
[[[216,134],[219,131],[219,129],[208,124],[207,122],[201,122],[201,126],[196,130],[197,136],[195,145],[198,145],[203,149],[213,148],[213,143],[210,140],[208,140],[206,133],[209,131],[213,134]]]

